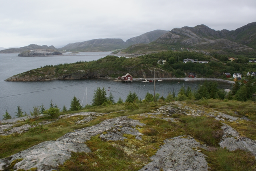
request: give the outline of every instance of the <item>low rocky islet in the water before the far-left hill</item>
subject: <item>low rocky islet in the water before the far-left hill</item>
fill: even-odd
[[[26,51],[18,54],[18,56],[55,56],[55,55],[62,55],[62,53],[53,49],[37,49],[37,50],[30,50],[30,51]]]

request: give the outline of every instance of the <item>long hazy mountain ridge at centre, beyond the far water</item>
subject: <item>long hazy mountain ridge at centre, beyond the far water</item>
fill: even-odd
[[[166,30],[154,30],[140,36],[130,38],[126,42],[122,39],[94,39],[84,42],[70,43],[59,50],[79,52],[100,52],[128,48],[132,44],[147,44],[158,39]]]

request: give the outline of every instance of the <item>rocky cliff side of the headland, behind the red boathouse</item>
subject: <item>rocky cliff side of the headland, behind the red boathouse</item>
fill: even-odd
[[[38,68],[28,72],[12,76],[5,81],[49,81],[49,80],[78,80],[86,78],[109,78],[112,75],[123,76],[127,73],[107,70],[77,70],[73,73],[56,74],[55,68]],[[154,70],[130,70],[134,78],[154,78]],[[172,74],[161,69],[156,69],[156,78],[172,78]]]

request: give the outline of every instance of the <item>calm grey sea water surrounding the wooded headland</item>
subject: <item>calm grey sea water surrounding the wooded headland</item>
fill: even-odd
[[[85,56],[56,56],[56,57],[18,57],[18,54],[0,54],[0,120],[5,110],[12,116],[15,115],[17,106],[29,114],[33,106],[40,106],[42,103],[46,109],[49,108],[50,100],[58,107],[65,105],[70,107],[70,101],[75,95],[83,105],[91,104],[92,95],[97,87],[105,87],[107,93],[115,97],[115,101],[121,97],[124,101],[129,91],[144,99],[146,92],[154,93],[154,83],[120,83],[111,80],[87,79],[87,80],[54,80],[48,82],[5,82],[6,78],[13,75],[40,68],[45,65],[56,65],[73,63],[77,61],[92,61],[104,58],[110,52],[84,52]],[[97,83],[96,83],[97,82]],[[173,88],[178,93],[180,87],[190,86],[197,89],[202,82],[180,82],[167,81],[156,82],[156,93],[167,96],[168,91],[172,93]],[[222,87],[230,88],[230,84],[221,83]],[[87,87],[87,99],[86,99]],[[110,88],[108,88],[110,87]]]

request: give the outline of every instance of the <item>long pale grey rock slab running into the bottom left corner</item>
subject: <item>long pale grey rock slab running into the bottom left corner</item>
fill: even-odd
[[[16,163],[13,169],[30,169],[33,167],[37,167],[38,171],[58,169],[58,165],[63,164],[71,157],[72,151],[90,152],[90,149],[84,144],[90,137],[102,134],[105,131],[111,132],[113,129],[120,127],[125,127],[122,129],[123,133],[137,135],[136,129],[133,129],[137,125],[143,126],[144,124],[125,116],[108,119],[98,125],[67,133],[56,141],[46,141],[5,159],[0,159],[0,170],[8,167],[16,159],[23,160]]]

